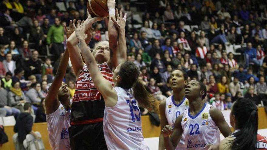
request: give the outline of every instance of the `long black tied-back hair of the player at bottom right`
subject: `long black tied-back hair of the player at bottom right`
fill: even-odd
[[[255,150],[258,131],[258,110],[250,99],[239,98],[232,108],[232,114],[236,117],[236,125],[240,131],[233,135],[233,150]]]

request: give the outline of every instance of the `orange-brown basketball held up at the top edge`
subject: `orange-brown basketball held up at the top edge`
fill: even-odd
[[[106,0],[88,0],[87,9],[92,17],[105,17],[109,15]]]

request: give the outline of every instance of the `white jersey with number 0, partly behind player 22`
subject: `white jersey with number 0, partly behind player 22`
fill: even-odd
[[[165,106],[165,116],[167,118],[168,124],[174,128],[174,122],[176,118],[183,114],[184,111],[189,108],[189,101],[187,98],[184,97],[184,99],[180,102],[180,104],[175,104],[174,97],[171,95],[166,99],[166,106]],[[182,138],[180,142],[178,143],[176,149],[181,150],[185,149],[184,145],[184,134],[182,135]]]

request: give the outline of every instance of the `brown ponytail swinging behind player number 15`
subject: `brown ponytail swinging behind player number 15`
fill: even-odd
[[[134,98],[137,100],[139,106],[146,108],[149,111],[154,111],[156,109],[154,96],[147,92],[139,79],[134,83],[133,90]]]

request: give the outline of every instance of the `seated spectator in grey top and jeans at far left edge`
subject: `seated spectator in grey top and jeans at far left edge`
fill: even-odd
[[[17,118],[20,114],[20,110],[15,107],[10,107],[10,102],[8,99],[8,91],[2,88],[2,83],[0,82],[0,108],[6,111],[6,116],[14,115]]]

